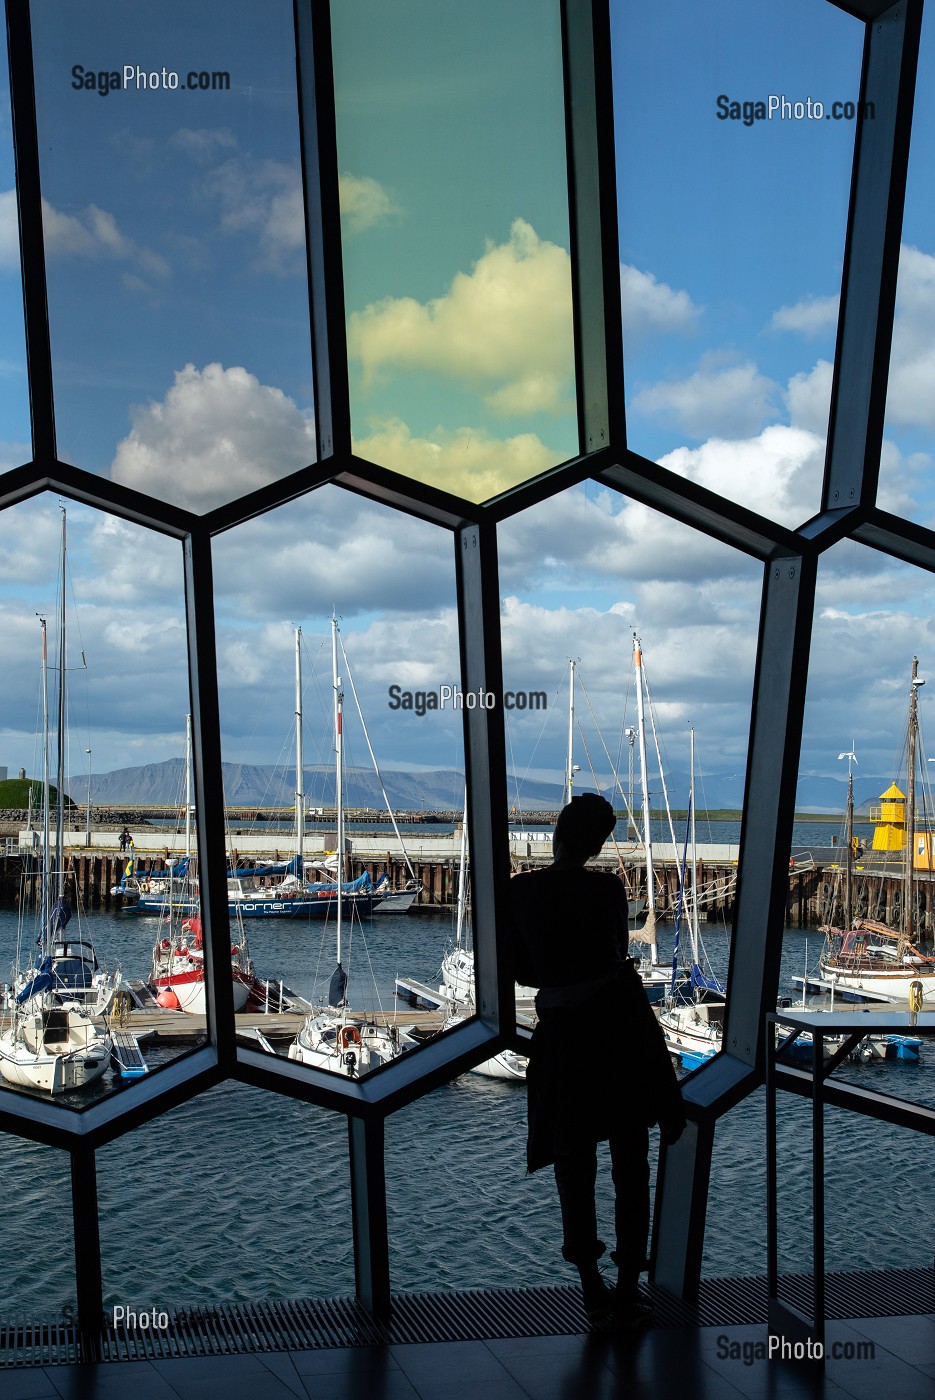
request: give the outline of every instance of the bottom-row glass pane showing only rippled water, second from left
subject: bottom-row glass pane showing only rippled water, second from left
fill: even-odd
[[[276,1170],[258,1170],[260,1142]],[[354,1291],[340,1114],[224,1084],[101,1148],[98,1193],[111,1312],[172,1316],[179,1308]],[[192,1249],[174,1225],[172,1211],[182,1208],[197,1217]],[[158,1245],[141,1249],[129,1221],[155,1229]]]

